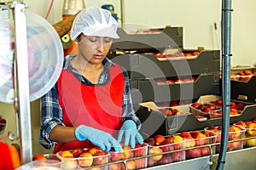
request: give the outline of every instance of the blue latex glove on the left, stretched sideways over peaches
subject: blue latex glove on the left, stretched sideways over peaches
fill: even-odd
[[[90,140],[92,144],[100,146],[102,150],[109,151],[111,147],[113,147],[116,152],[124,151],[122,146],[116,139],[113,138],[113,136],[93,127],[79,125],[79,127],[77,127],[75,130],[75,136],[80,141],[85,139]]]

